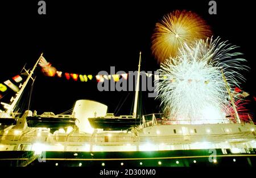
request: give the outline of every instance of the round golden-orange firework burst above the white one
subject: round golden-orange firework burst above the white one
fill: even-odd
[[[210,27],[199,15],[191,11],[176,10],[156,23],[155,33],[152,35],[152,53],[159,63],[163,63],[169,57],[176,57],[184,43],[206,39],[211,35]]]

